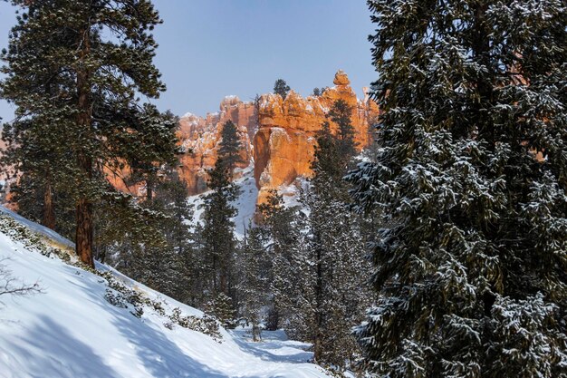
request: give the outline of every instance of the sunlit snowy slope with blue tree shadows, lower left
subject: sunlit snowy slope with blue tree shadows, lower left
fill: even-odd
[[[4,226],[10,217],[6,214],[0,208]],[[71,246],[53,231],[18,220],[47,245]],[[201,313],[109,267],[97,266],[140,296],[163,305],[161,310],[143,305],[143,315],[132,315],[130,305],[111,305],[109,280],[104,276],[43,256],[22,237],[14,237],[16,232],[2,229],[0,258],[7,258],[2,264],[14,277],[28,284],[38,281],[43,289],[43,294],[17,299],[0,296],[5,304],[0,308],[2,378],[326,376],[318,366],[305,363],[311,354],[304,345],[285,341],[282,334],[266,334],[264,343],[253,344],[242,331],[221,328],[222,338],[216,340],[172,324],[168,316],[175,307],[181,315]]]

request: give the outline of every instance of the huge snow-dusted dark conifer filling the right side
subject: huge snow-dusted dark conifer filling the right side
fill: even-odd
[[[565,377],[567,9],[369,1],[375,162],[351,173],[374,376]]]

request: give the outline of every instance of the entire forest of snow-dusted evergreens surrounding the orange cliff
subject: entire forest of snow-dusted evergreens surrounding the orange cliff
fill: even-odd
[[[283,330],[334,376],[567,377],[564,2],[367,1],[370,146],[356,109],[332,102],[312,174],[293,202],[271,189],[244,235],[233,121],[188,200],[179,118],[152,103],[166,83],[150,0],[10,3],[6,202],[72,240],[83,267],[254,343]],[[279,101],[290,91],[275,82]]]

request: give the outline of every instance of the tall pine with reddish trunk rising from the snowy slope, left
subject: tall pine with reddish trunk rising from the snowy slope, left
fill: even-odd
[[[112,198],[104,170],[133,158],[159,164],[173,151],[173,132],[136,98],[165,89],[148,34],[161,20],[149,0],[13,3],[25,12],[2,55],[2,97],[16,106],[14,124],[49,118],[51,143],[68,153],[58,170],[72,183],[77,254],[92,267],[93,215],[103,198]],[[50,81],[55,88],[47,91]],[[40,127],[26,132],[28,141],[45,135]]]

